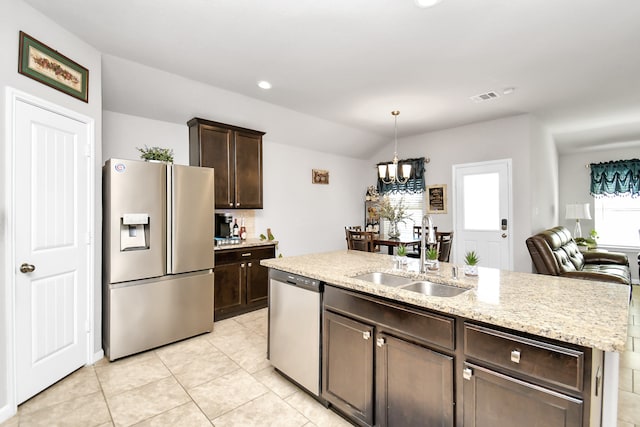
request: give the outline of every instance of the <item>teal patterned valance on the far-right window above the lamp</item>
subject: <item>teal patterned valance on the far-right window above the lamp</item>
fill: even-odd
[[[640,196],[640,160],[591,163],[591,194],[595,197]]]

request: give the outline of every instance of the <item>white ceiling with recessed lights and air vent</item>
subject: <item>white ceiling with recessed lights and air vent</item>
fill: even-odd
[[[638,0],[25,1],[101,52],[379,135],[399,109],[399,137],[532,113],[567,150],[640,141]]]

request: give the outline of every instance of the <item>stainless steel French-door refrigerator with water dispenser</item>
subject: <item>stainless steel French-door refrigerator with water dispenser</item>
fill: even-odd
[[[109,360],[211,331],[213,169],[110,159],[102,174]]]

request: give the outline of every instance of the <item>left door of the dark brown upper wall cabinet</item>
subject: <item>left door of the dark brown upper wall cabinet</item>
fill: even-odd
[[[214,168],[216,209],[234,207],[235,169],[233,132],[213,126],[200,126],[200,164]]]

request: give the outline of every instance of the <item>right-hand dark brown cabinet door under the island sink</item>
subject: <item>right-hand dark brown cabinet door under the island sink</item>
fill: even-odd
[[[453,358],[386,334],[376,345],[376,425],[453,426]]]

